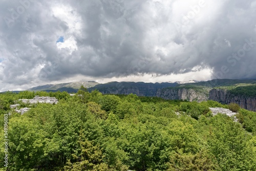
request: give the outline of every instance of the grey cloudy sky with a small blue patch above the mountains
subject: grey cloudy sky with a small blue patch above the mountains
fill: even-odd
[[[2,0],[0,92],[256,79],[254,0]]]

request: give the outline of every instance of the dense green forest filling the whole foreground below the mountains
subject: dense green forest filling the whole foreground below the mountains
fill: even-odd
[[[31,108],[23,115],[10,108],[35,95],[59,102],[18,102]],[[8,164],[1,143],[0,170],[256,170],[256,113],[238,109],[234,122],[212,116],[209,107],[232,106],[102,95],[83,87],[73,97],[6,92],[0,94],[0,135],[4,142],[8,133]]]

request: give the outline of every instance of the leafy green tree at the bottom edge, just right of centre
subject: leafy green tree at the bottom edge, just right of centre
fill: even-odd
[[[143,117],[143,116],[142,116]],[[152,116],[154,117],[154,116]],[[142,119],[144,120],[144,119]],[[124,134],[124,135],[123,135]],[[123,137],[127,137],[124,151],[129,155],[134,170],[165,170],[170,155],[168,134],[155,122],[126,124]]]

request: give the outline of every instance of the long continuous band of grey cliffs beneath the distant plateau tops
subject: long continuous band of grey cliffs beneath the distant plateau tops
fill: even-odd
[[[97,89],[102,94],[136,94],[137,96],[157,96],[170,100],[206,101],[214,100],[223,104],[237,103],[241,108],[256,112],[256,97],[234,95],[228,90],[212,89],[205,86],[188,85],[177,87],[177,83],[145,83],[145,82],[109,82],[97,84],[89,88],[91,92]]]

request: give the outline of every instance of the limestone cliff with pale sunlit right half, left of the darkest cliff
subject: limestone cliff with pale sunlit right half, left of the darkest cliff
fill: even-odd
[[[208,99],[205,93],[194,89],[159,89],[157,97],[170,100],[188,100],[188,101],[205,101]]]

